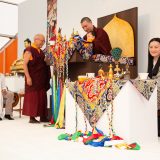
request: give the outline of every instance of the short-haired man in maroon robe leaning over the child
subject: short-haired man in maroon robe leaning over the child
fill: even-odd
[[[112,49],[108,34],[102,28],[96,28],[90,18],[84,17],[81,20],[81,26],[86,33],[94,32],[95,39],[93,43],[93,54],[111,55]],[[87,36],[84,36],[87,39]],[[93,57],[94,57],[93,55]]]

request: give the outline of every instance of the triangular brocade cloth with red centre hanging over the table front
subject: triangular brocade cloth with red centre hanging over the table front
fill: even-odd
[[[68,88],[90,125],[94,127],[112,100],[111,82],[99,78],[82,84],[69,82]]]

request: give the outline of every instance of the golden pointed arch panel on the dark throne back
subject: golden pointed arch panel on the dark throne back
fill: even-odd
[[[134,57],[133,28],[128,22],[115,15],[112,20],[106,24],[104,30],[109,36],[112,48],[121,48],[123,57]]]

